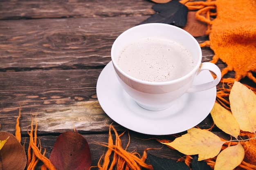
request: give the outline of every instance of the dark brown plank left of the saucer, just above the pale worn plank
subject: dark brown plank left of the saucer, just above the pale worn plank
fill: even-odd
[[[19,103],[25,106],[26,101],[36,105],[51,105],[96,100],[96,83],[101,70],[102,68],[0,73],[1,102],[4,102],[2,106],[19,106]]]

